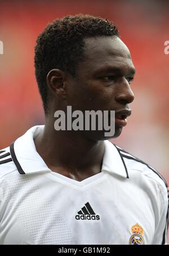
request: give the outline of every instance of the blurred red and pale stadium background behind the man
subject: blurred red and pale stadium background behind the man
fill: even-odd
[[[155,167],[169,183],[169,1],[0,0],[0,148],[44,123],[34,76],[34,45],[47,23],[68,14],[113,20],[136,67],[132,116],[113,143]],[[169,240],[168,240],[169,242]]]

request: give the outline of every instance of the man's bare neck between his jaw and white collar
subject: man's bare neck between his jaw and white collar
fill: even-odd
[[[54,123],[49,121],[46,118],[45,128],[34,139],[37,152],[48,167],[100,172],[104,142],[83,138],[78,131],[56,131]]]

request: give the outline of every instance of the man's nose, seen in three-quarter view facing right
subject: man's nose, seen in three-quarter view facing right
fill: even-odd
[[[123,105],[130,104],[132,101],[134,101],[134,93],[132,92],[130,84],[127,81],[121,84],[119,88],[121,89],[118,90],[117,94],[115,95],[115,100]]]

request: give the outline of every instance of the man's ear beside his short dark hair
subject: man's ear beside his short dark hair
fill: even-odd
[[[47,74],[47,85],[52,94],[59,99],[66,99],[65,94],[65,72],[60,69],[52,69]]]

